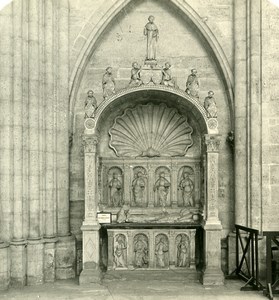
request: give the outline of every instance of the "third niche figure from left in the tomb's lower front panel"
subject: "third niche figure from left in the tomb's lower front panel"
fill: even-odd
[[[169,240],[165,234],[158,234],[155,238],[156,267],[169,267]]]

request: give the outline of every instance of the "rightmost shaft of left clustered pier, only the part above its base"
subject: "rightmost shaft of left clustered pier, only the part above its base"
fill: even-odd
[[[58,234],[70,233],[69,219],[69,3],[59,0],[57,89]]]

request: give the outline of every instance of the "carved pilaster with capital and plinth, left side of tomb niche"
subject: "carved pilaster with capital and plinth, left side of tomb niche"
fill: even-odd
[[[81,230],[83,232],[83,270],[79,277],[80,284],[99,282],[99,229],[97,220],[97,166],[96,151],[98,137],[85,134],[84,141],[84,182],[85,182],[85,219]]]

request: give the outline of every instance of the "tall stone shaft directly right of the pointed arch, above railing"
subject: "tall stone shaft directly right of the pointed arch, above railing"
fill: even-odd
[[[247,224],[247,59],[246,0],[234,1],[235,71],[235,223]]]

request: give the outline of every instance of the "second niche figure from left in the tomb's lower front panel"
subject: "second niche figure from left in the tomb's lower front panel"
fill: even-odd
[[[149,265],[149,243],[145,234],[137,234],[134,237],[134,267],[147,268]]]

